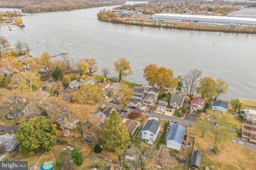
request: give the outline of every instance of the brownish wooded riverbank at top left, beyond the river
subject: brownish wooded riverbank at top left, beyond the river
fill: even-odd
[[[101,6],[114,6],[125,4],[125,1],[103,1],[103,0],[1,0],[0,8],[19,8],[24,13],[70,11]]]

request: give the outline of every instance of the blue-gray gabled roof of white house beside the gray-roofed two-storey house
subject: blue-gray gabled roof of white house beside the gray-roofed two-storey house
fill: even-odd
[[[183,127],[182,125],[180,125],[180,124],[172,125],[172,127],[167,135],[166,141],[174,140],[174,141],[180,143],[180,145],[181,145],[183,142],[183,139],[184,139],[185,132],[186,132],[186,128]]]

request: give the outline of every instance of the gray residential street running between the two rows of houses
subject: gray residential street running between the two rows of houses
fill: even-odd
[[[106,106],[110,106],[110,107],[114,107],[114,108],[117,108],[117,109],[122,109],[121,106],[119,105],[115,105],[115,104],[112,104],[112,103],[109,103],[109,102],[104,102],[104,104]],[[131,113],[131,111],[133,110],[132,108],[129,108],[129,107],[126,107],[126,110],[129,110],[128,112],[126,112],[124,114],[124,116],[122,116],[122,118],[126,117],[129,113]],[[168,116],[168,115],[164,115],[162,113],[149,113],[149,112],[146,112],[146,111],[142,111],[142,113],[144,114],[148,114],[149,116],[154,116],[156,118],[160,118],[160,119],[163,119],[163,120],[169,120],[169,121],[178,121],[179,124],[181,124],[182,126],[186,127],[190,124],[190,126],[193,125],[194,123],[194,117],[195,116],[190,116],[190,115],[186,115],[186,117],[184,119],[181,119],[179,117],[173,117],[173,116]]]

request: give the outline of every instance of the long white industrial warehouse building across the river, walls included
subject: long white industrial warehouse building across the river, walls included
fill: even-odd
[[[256,18],[230,17],[230,16],[203,16],[188,14],[154,14],[152,20],[190,21],[200,23],[215,23],[229,25],[250,25],[256,26]]]

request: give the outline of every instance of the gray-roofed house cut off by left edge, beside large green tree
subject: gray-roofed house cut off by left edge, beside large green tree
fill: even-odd
[[[0,136],[0,152],[11,152],[19,145],[15,134],[6,133]]]

